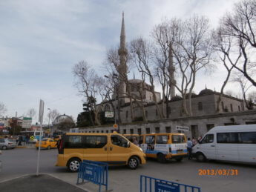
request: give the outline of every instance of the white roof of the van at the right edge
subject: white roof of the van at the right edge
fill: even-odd
[[[256,124],[254,125],[227,125],[227,126],[217,126],[209,130],[208,133],[212,132],[226,132],[226,131],[234,131],[238,132],[241,130],[246,130],[246,131],[256,131]]]

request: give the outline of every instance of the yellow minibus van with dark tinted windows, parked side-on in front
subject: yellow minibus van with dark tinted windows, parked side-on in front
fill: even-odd
[[[145,164],[145,153],[119,133],[66,133],[58,145],[56,166],[79,169],[82,160],[108,162],[109,165],[128,165],[136,169]]]

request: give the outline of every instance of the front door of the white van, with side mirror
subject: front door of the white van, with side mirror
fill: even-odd
[[[209,133],[203,137],[200,145],[196,145],[197,150],[202,151],[207,159],[216,159],[216,139],[214,133]]]

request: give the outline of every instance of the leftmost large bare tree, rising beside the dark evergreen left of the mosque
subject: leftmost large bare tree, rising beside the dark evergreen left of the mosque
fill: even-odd
[[[79,90],[79,93],[84,96],[85,99],[87,99],[91,106],[91,110],[94,114],[95,124],[100,125],[97,111],[99,107],[96,107],[96,96],[99,93],[99,84],[101,82],[99,81],[99,77],[96,75],[91,66],[85,61],[74,65],[73,75],[76,78],[76,87]]]

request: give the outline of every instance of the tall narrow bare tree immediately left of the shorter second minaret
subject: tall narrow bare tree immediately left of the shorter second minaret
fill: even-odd
[[[168,100],[170,99],[171,91],[174,92],[174,90],[171,90],[171,85],[176,85],[172,46],[175,36],[178,35],[180,22],[179,19],[171,19],[170,21],[165,19],[160,24],[157,24],[151,33],[155,42],[153,57],[156,67],[154,68],[154,75],[157,76],[158,82],[162,87],[162,111],[163,116],[166,114],[166,118],[169,117],[170,113]]]

